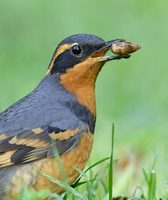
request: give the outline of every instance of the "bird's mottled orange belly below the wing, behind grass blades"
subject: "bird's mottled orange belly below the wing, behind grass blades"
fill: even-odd
[[[58,194],[62,193],[64,189],[51,182],[39,170],[46,175],[72,184],[79,176],[74,167],[80,170],[85,167],[92,144],[93,134],[85,133],[81,136],[76,147],[58,158],[46,158],[30,164],[15,166],[3,192],[3,200],[16,197],[24,186],[34,188],[37,191],[49,189]]]

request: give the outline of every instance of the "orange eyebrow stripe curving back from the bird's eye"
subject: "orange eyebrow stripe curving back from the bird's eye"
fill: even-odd
[[[54,64],[55,59],[56,59],[61,53],[63,53],[64,51],[70,49],[71,47],[72,47],[72,44],[63,44],[63,45],[61,45],[61,46],[57,49],[57,51],[55,51],[55,53],[54,53],[54,55],[53,55],[53,57],[52,57],[52,59],[51,59],[51,62],[50,62],[50,64],[49,64],[49,67],[48,67],[48,70],[47,70],[47,74],[49,74],[50,71],[51,71],[51,69],[53,68],[53,64]]]

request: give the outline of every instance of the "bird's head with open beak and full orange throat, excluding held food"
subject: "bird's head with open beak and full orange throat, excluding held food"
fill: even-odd
[[[78,102],[95,115],[95,82],[105,62],[121,55],[105,56],[114,42],[90,34],[76,34],[64,39],[56,48],[49,64],[48,75],[57,74],[60,84],[73,93]]]

